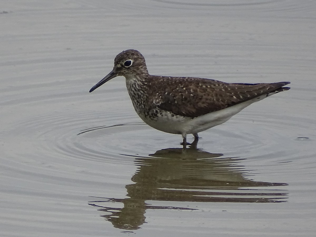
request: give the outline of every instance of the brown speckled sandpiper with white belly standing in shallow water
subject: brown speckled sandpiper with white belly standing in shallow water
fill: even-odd
[[[89,92],[116,76],[124,76],[135,111],[149,126],[181,134],[183,147],[190,145],[186,135],[220,125],[253,102],[289,90],[290,82],[226,83],[198,77],[153,76],[145,58],[134,49],[119,53],[113,70]]]

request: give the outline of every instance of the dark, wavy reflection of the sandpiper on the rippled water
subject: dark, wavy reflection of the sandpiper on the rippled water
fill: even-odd
[[[129,198],[106,198],[92,201],[101,207],[102,215],[120,229],[138,229],[145,223],[146,209],[196,210],[175,206],[152,206],[146,200],[178,202],[285,202],[284,190],[255,187],[283,186],[285,183],[257,182],[246,179],[247,171],[239,165],[240,158],[219,158],[198,150],[169,148],[136,157],[138,169],[131,178],[134,184],[126,185]],[[101,198],[101,197],[98,197]],[[113,205],[124,204],[124,207]],[[162,202],[161,202],[162,204]],[[109,207],[112,205],[112,207]]]

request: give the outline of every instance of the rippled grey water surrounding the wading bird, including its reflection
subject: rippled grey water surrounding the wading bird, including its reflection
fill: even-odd
[[[313,236],[313,1],[5,1],[1,236]],[[290,81],[201,132],[136,115],[117,77],[135,48],[149,73]],[[191,141],[190,136],[188,140]]]

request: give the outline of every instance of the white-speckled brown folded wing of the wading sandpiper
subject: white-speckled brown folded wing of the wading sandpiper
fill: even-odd
[[[171,77],[164,80],[159,94],[161,109],[185,117],[197,117],[218,111],[260,95],[288,90],[282,88],[290,82],[276,83],[225,83],[210,79]]]

